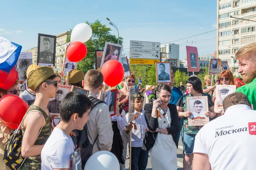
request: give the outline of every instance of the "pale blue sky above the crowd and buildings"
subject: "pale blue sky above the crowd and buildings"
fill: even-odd
[[[117,36],[108,17],[128,55],[130,40],[164,43],[216,29],[216,5],[217,0],[1,0],[0,36],[25,51],[37,46],[38,33],[57,35],[97,19]],[[216,31],[174,43],[180,44],[180,59],[186,57],[186,44],[198,47],[198,55],[213,54]]]

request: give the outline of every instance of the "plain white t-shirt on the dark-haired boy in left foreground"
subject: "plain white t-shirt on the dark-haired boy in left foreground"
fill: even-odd
[[[41,152],[42,170],[70,168],[75,145],[70,136],[55,127]]]

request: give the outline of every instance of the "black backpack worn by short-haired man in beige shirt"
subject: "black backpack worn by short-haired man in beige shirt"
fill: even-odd
[[[94,106],[91,108],[91,111],[96,105],[100,103],[105,103],[102,100],[94,98],[92,96],[90,96],[89,99],[94,104]],[[95,144],[98,136],[96,137],[94,143],[90,144],[87,134],[87,125],[85,124],[83,130],[72,130],[72,132],[70,133],[70,137],[72,138],[76,149],[80,147],[82,167],[84,167],[87,160],[93,154],[93,145]]]

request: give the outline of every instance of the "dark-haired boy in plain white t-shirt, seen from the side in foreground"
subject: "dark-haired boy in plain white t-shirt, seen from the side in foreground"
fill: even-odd
[[[41,160],[42,170],[69,170],[72,167],[71,156],[75,151],[75,145],[70,132],[74,129],[82,130],[90,119],[90,108],[93,103],[90,99],[78,92],[68,93],[60,104],[61,121],[53,129],[49,139],[45,143]]]

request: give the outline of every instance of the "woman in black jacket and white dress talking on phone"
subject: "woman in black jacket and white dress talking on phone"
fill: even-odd
[[[148,130],[142,148],[149,150],[153,170],[176,170],[178,142],[175,134],[179,130],[177,108],[169,104],[172,90],[167,84],[158,85],[156,94],[159,98],[144,106]],[[159,106],[166,111],[166,115],[157,111]]]

